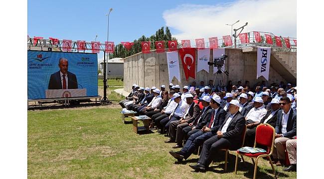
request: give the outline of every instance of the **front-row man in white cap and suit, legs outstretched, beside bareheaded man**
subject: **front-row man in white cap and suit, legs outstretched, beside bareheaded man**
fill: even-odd
[[[212,107],[213,111],[208,124],[200,131],[192,134],[180,151],[169,152],[175,159],[178,161],[187,159],[196,150],[196,148],[203,144],[204,141],[216,135],[216,132],[220,125],[224,122],[226,115],[226,111],[220,107],[219,103],[220,97],[218,95],[214,95],[212,99],[210,99],[210,106]]]

